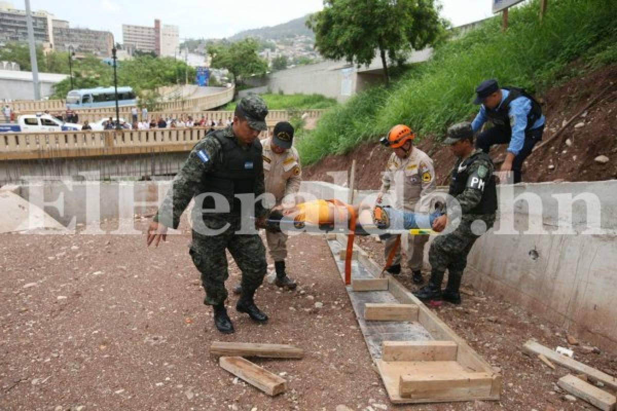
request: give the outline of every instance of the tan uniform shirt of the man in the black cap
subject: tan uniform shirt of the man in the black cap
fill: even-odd
[[[276,205],[283,197],[296,194],[300,190],[302,169],[300,157],[295,147],[277,154],[270,147],[270,138],[262,140],[263,146],[263,177],[265,192],[272,193],[276,198]]]

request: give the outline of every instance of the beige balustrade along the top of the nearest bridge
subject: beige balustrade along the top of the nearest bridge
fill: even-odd
[[[223,127],[215,127],[222,129]],[[208,127],[0,134],[0,161],[188,152]],[[259,135],[271,135],[273,126]]]

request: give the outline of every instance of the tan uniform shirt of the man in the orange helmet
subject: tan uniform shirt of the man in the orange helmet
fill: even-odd
[[[417,211],[430,211],[430,198],[426,195],[433,192],[437,186],[433,160],[416,147],[413,147],[409,157],[405,159],[392,153],[386,165],[386,172],[381,178],[379,191],[385,194],[392,185],[394,185],[394,208],[413,211],[419,202],[420,207]]]

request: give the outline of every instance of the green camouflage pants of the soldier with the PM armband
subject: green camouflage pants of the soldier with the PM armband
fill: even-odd
[[[433,273],[443,274],[447,269],[451,277],[463,275],[467,266],[467,255],[473,243],[480,237],[471,230],[471,224],[477,220],[484,221],[488,230],[495,222],[495,214],[464,215],[457,229],[433,240],[428,251],[428,261]]]

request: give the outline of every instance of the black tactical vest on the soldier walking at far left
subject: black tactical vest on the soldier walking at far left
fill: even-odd
[[[230,203],[233,214],[239,214],[241,204],[236,194],[254,193],[255,179],[263,172],[262,144],[254,139],[249,149],[243,149],[233,139],[225,137],[223,131],[212,136],[222,147],[223,163],[219,169],[204,173],[201,177],[200,193],[219,193]],[[214,208],[214,199],[206,197],[203,208]]]

